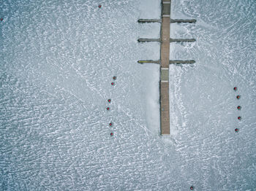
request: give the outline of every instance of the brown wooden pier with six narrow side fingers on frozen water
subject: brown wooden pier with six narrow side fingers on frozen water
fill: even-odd
[[[170,18],[171,0],[162,0],[161,19],[139,19],[139,23],[161,23],[160,39],[138,39],[138,42],[159,42],[160,60],[144,60],[138,63],[158,63],[160,64],[160,128],[161,135],[170,134],[170,104],[169,104],[169,64],[195,63],[195,61],[170,61],[170,42],[195,42],[195,39],[171,39],[170,23],[195,23],[196,20],[182,20]]]

